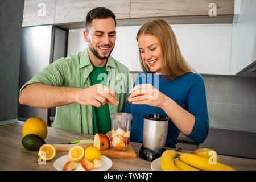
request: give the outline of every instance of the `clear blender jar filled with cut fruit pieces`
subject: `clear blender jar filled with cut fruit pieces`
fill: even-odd
[[[129,113],[114,113],[110,116],[111,125],[111,147],[114,150],[125,151],[130,142],[132,115]]]

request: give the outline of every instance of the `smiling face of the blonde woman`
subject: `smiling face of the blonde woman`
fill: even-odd
[[[141,35],[138,38],[139,52],[144,63],[147,64],[151,72],[161,74],[162,50],[158,38],[152,35]]]

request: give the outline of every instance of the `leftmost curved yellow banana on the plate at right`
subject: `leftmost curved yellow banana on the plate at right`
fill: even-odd
[[[181,153],[174,150],[166,150],[160,158],[160,166],[163,171],[180,171],[174,164],[174,159]]]

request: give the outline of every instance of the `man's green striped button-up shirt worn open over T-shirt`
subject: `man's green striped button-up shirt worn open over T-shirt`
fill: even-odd
[[[89,74],[92,70],[93,65],[90,63],[88,48],[86,48],[77,55],[70,55],[49,64],[24,84],[20,92],[25,86],[33,83],[88,88]],[[129,69],[110,56],[106,62],[106,71],[108,71],[107,86],[115,92],[119,101],[118,106],[109,105],[109,112],[110,114],[122,112],[129,97]],[[80,105],[75,102],[56,107],[53,127],[93,134],[92,105]]]

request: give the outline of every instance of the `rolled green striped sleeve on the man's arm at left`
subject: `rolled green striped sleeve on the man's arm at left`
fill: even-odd
[[[49,64],[43,71],[36,74],[19,90],[19,94],[29,84],[41,83],[52,86],[63,86],[65,73],[67,72],[67,65],[65,59],[56,60],[54,63]]]

